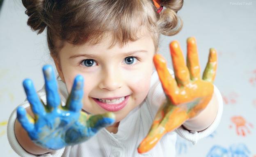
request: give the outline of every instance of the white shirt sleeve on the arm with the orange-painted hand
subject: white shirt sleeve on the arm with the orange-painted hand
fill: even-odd
[[[169,69],[170,74],[174,77],[174,72]],[[154,118],[156,112],[158,111],[158,108],[166,102],[166,96],[165,93],[162,89],[162,84],[159,80],[158,74],[155,71],[152,74],[151,77],[151,88],[149,90],[149,94],[147,97],[147,101],[150,104],[150,112],[152,117]],[[185,129],[183,126],[180,126],[175,130],[175,132],[183,137],[184,139],[187,139],[188,141],[192,142],[193,144],[196,144],[199,139],[202,139],[204,137],[209,136],[211,133],[213,133],[214,130],[216,130],[217,126],[219,125],[220,119],[222,117],[222,112],[223,112],[223,100],[222,96],[218,90],[218,88],[214,85],[214,93],[217,97],[217,102],[218,102],[218,111],[217,115],[215,117],[215,120],[213,123],[206,128],[205,130],[202,131],[190,131]]]

